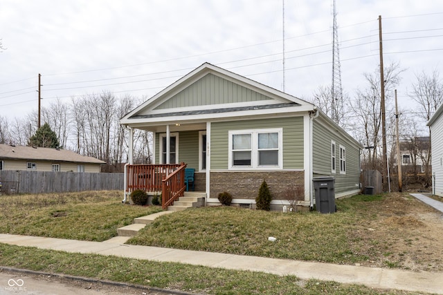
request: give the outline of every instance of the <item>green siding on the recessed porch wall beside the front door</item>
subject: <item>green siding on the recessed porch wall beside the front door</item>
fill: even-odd
[[[185,162],[188,168],[199,170],[199,131],[180,131],[179,133],[179,159],[178,163]],[[165,133],[155,134],[155,151],[156,163],[160,164],[160,135]],[[174,163],[172,163],[174,164]]]

